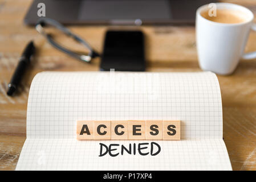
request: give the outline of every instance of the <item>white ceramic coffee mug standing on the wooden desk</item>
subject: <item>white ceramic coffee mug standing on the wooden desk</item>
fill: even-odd
[[[240,59],[256,58],[256,51],[244,54],[254,15],[246,7],[232,3],[214,3],[218,9],[237,10],[246,15],[242,23],[217,23],[205,19],[201,13],[209,10],[209,5],[201,6],[196,12],[196,43],[201,69],[220,75],[234,72]]]

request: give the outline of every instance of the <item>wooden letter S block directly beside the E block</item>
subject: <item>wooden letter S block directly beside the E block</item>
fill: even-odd
[[[162,120],[146,121],[146,140],[162,140]]]

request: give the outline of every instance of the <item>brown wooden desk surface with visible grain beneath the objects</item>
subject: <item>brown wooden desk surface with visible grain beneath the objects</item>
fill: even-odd
[[[228,1],[256,13],[256,1]],[[27,97],[32,78],[41,71],[99,71],[99,59],[84,64],[56,51],[34,27],[23,25],[31,0],[0,0],[0,170],[12,170],[26,139]],[[256,20],[255,20],[256,22]],[[73,26],[76,34],[102,50],[105,26]],[[147,71],[200,71],[195,30],[191,26],[125,27],[145,34]],[[29,40],[35,40],[37,54],[20,94],[7,97],[7,83],[18,57]],[[72,46],[72,44],[71,44]],[[247,51],[256,50],[256,32],[251,32]],[[231,76],[218,76],[221,85],[224,140],[234,170],[256,169],[256,60],[241,60]]]

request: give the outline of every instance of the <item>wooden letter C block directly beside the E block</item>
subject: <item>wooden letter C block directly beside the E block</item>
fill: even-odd
[[[127,121],[111,121],[111,139],[128,140]]]

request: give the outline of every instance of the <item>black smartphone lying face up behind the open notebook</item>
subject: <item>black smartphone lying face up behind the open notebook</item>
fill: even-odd
[[[145,71],[144,36],[141,31],[107,31],[100,70]]]

